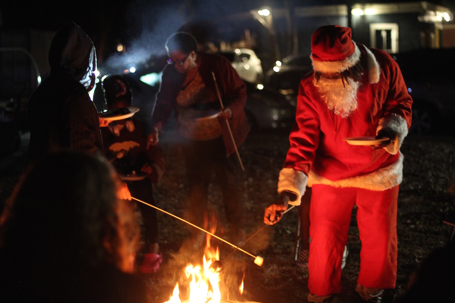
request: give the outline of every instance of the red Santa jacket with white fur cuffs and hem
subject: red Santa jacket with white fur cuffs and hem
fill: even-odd
[[[365,67],[357,92],[357,109],[342,118],[327,108],[313,84],[303,78],[297,96],[296,123],[278,180],[278,193],[291,191],[300,204],[306,186],[326,184],[384,190],[401,183],[399,147],[411,126],[412,98],[401,71],[387,53],[358,44]],[[373,150],[349,145],[343,138],[375,136],[380,129],[396,133],[394,144]]]

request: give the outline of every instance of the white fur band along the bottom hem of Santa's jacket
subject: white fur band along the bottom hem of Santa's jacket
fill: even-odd
[[[394,186],[399,185],[403,180],[403,159],[403,154],[400,154],[398,160],[387,167],[368,174],[338,181],[328,180],[318,175],[315,171],[310,170],[308,176],[308,186],[311,187],[315,184],[324,184],[339,188],[355,187],[376,191],[391,189]]]

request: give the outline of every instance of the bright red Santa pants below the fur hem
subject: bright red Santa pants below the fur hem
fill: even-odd
[[[398,188],[373,191],[313,186],[308,260],[308,287],[312,294],[326,296],[341,291],[341,260],[354,205],[362,243],[357,283],[371,288],[395,288]]]

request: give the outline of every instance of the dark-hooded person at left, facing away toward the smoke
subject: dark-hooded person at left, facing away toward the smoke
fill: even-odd
[[[50,76],[30,97],[27,163],[70,148],[102,149],[98,114],[88,91],[97,67],[92,40],[75,23],[64,25],[49,49]]]

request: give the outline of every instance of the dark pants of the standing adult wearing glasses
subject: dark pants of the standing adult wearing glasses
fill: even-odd
[[[207,210],[207,189],[215,173],[223,194],[226,220],[241,228],[243,203],[239,194],[240,167],[237,155],[227,156],[222,137],[208,141],[189,141],[182,151],[190,185],[189,210],[192,223],[202,227],[204,211]]]

